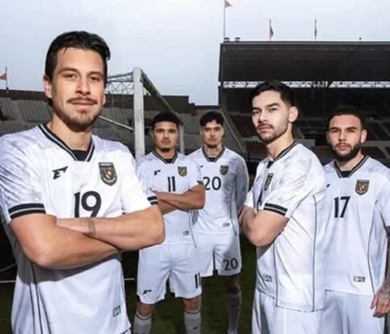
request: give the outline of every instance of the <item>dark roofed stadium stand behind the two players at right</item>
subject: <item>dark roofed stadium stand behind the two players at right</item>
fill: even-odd
[[[390,164],[389,56],[387,42],[226,41],[220,48],[219,103],[241,133],[249,160],[265,156],[251,122],[250,89],[277,78],[297,97],[297,140],[323,163],[332,159],[326,114],[338,105],[354,105],[367,117],[363,152]]]

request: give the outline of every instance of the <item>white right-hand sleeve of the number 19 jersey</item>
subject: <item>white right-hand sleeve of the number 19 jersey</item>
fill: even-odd
[[[123,166],[123,181],[122,187],[122,211],[131,213],[134,211],[144,210],[154,202],[157,202],[157,197],[146,193],[146,187],[143,186],[136,172],[135,160],[130,151],[125,154],[122,161]]]

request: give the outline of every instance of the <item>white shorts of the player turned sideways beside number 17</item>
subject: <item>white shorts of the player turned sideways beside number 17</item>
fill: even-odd
[[[322,313],[277,307],[274,298],[256,289],[252,308],[252,334],[318,334]]]

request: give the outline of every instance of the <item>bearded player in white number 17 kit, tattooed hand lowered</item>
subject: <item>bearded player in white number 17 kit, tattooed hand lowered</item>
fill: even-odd
[[[383,334],[390,311],[390,170],[365,156],[364,117],[340,106],[328,119],[335,160],[325,166],[328,217],[323,334]]]

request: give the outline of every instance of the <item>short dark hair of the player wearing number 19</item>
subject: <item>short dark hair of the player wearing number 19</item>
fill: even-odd
[[[99,35],[87,31],[69,31],[54,38],[46,54],[45,75],[53,80],[53,72],[57,66],[57,55],[60,50],[67,48],[76,48],[83,50],[92,50],[102,57],[104,64],[104,83],[107,84],[107,61],[111,57],[110,49],[107,43]]]

